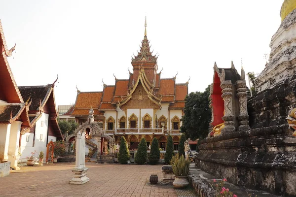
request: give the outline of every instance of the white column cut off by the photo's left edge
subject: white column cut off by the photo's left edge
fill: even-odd
[[[8,160],[8,145],[11,124],[0,124],[0,161]]]

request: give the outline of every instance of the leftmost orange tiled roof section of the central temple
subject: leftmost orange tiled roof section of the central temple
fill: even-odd
[[[74,108],[98,108],[101,104],[103,92],[81,92],[77,95]]]

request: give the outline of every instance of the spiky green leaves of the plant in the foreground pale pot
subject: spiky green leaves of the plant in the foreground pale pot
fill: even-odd
[[[188,176],[190,160],[179,154],[172,157],[171,163],[175,176]]]

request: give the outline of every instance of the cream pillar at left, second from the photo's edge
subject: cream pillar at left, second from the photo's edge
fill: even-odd
[[[8,161],[10,161],[10,167],[14,169],[19,169],[17,166],[17,161],[20,159],[19,156],[19,142],[21,125],[23,122],[15,121],[11,124],[9,146],[8,146]]]

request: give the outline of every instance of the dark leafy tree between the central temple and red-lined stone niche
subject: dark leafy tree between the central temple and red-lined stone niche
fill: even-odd
[[[208,134],[209,123],[211,121],[211,109],[209,107],[210,85],[204,92],[191,92],[185,98],[183,125],[181,131],[195,140],[205,138]]]

